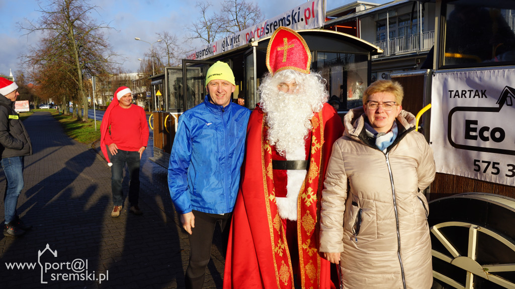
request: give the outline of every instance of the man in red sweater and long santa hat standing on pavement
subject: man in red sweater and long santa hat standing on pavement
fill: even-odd
[[[129,211],[141,215],[138,206],[140,194],[140,161],[148,143],[148,124],[145,111],[141,106],[132,104],[129,87],[116,89],[113,100],[107,107],[100,125],[100,149],[111,167],[111,190],[113,211],[117,217],[122,210],[122,180],[125,164],[129,170],[130,184],[128,199]],[[109,158],[108,150],[111,154]]]

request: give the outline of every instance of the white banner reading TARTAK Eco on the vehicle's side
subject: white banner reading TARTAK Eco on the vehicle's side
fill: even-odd
[[[435,73],[436,171],[515,186],[515,69]]]

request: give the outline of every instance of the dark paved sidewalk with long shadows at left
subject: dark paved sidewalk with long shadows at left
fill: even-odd
[[[18,212],[34,228],[18,239],[0,236],[0,288],[183,288],[188,239],[177,226],[167,171],[148,160],[153,140],[142,157],[144,215],[130,214],[126,200],[121,216],[111,218],[106,161],[67,137],[48,112],[34,113],[24,124],[33,154],[25,157]],[[1,169],[0,188],[3,196]],[[126,176],[125,196],[127,191]],[[3,216],[0,202],[0,221]],[[216,236],[204,288],[222,284],[224,258]]]

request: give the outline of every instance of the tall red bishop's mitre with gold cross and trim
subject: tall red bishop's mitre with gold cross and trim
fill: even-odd
[[[301,35],[295,30],[279,27],[273,32],[266,50],[266,67],[273,76],[278,71],[293,69],[309,74],[311,52]]]

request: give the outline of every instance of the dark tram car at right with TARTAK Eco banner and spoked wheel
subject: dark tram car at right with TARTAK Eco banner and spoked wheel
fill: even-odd
[[[435,154],[433,288],[515,288],[515,2],[436,3],[421,68],[393,73]]]

